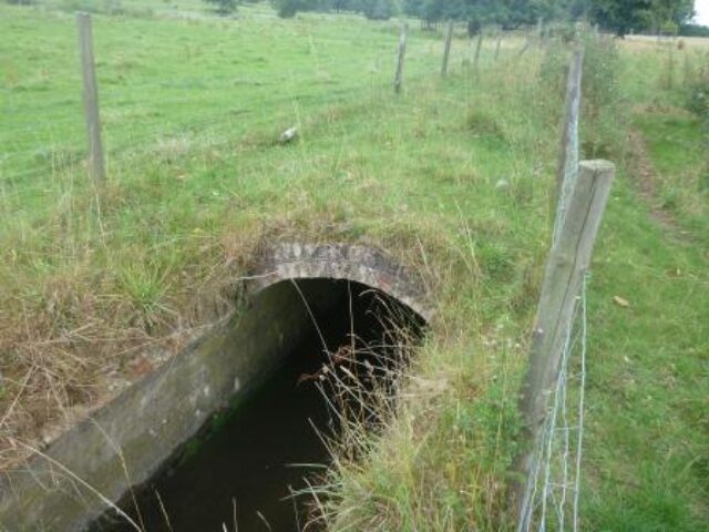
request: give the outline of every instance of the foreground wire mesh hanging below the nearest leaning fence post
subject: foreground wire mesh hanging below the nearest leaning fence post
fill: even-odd
[[[518,532],[579,530],[586,355],[588,347],[587,284],[583,278],[572,324],[564,341],[551,409],[542,428],[527,480]],[[578,359],[575,352],[578,351]],[[576,369],[577,368],[577,369]],[[577,388],[569,407],[569,388]],[[572,436],[575,434],[575,438]],[[569,497],[571,492],[571,497]]]

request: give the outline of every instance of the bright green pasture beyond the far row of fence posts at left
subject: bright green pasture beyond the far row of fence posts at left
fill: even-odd
[[[2,17],[9,38],[0,48],[0,142],[8,153],[0,175],[6,194],[24,203],[42,192],[53,168],[84,153],[75,22],[73,13],[1,9],[12,17]],[[169,157],[188,144],[238,139],[259,126],[276,132],[298,122],[301,111],[391,79],[393,24],[342,19],[318,30],[311,19],[257,14],[244,10],[243,19],[224,21],[94,17],[110,165],[135,150]],[[343,34],[353,24],[366,29],[364,47]],[[412,42],[410,76],[431,68],[431,44]]]

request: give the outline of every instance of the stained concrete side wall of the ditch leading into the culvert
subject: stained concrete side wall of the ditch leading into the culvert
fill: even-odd
[[[335,303],[327,289],[304,296],[315,307]],[[148,480],[213,413],[265,377],[285,346],[300,341],[312,327],[290,283],[261,291],[248,311],[215,326],[61,437],[47,450],[49,459],[33,457],[7,473],[0,480],[0,530],[84,530],[107,507],[68,471],[110,501]]]

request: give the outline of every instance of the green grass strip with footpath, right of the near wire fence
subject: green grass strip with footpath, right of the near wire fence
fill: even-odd
[[[593,327],[606,334],[589,388],[592,530],[698,531],[709,515],[707,132],[680,109],[681,86],[662,83],[665,53],[625,57],[637,75],[624,81],[633,126],[656,171],[650,201],[674,223],[616,187],[594,273]],[[631,307],[614,306],[614,295]]]

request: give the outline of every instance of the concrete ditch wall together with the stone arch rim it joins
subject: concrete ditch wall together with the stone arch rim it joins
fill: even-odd
[[[292,278],[322,283],[297,289]],[[247,309],[215,325],[44,456],[0,477],[0,531],[85,530],[107,510],[106,500],[117,501],[151,479],[215,412],[243,400],[311,331],[304,298],[314,311],[338,303],[327,279],[367,284],[430,318],[414,285],[379,252],[339,245],[266,250],[249,282]]]

